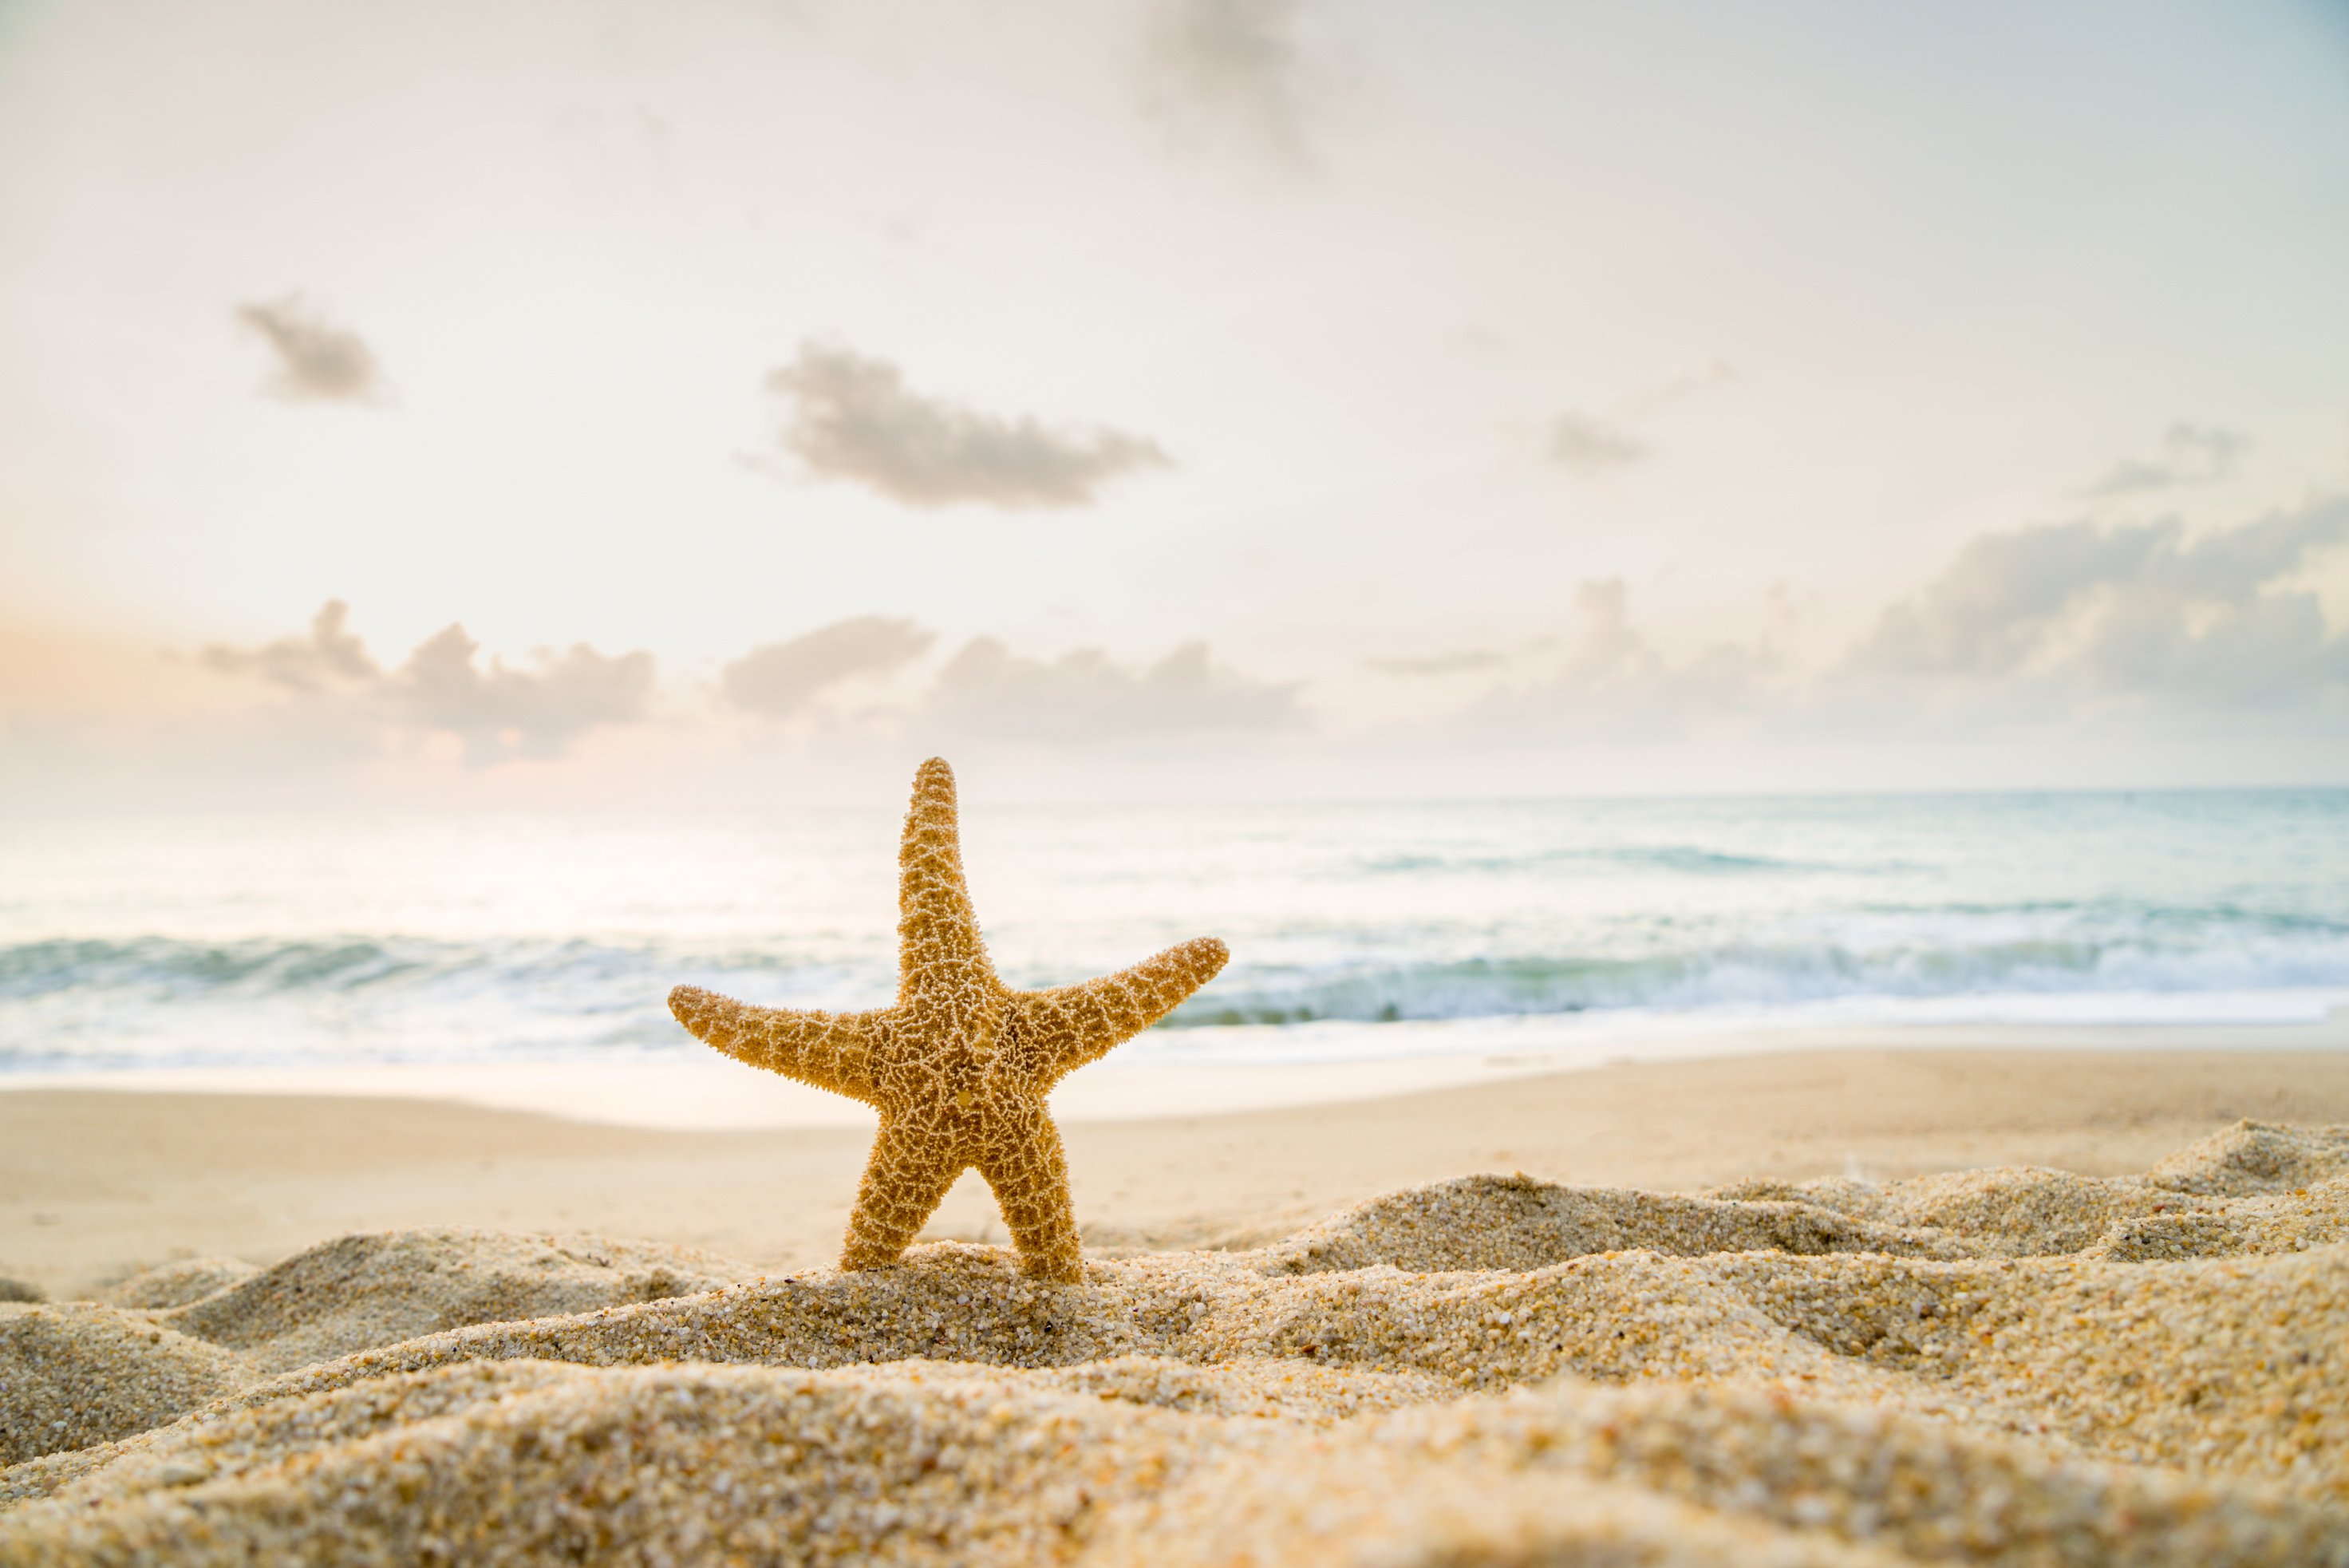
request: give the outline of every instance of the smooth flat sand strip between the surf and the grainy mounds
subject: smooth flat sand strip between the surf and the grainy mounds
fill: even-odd
[[[1247,1107],[1229,1114],[1149,1114],[1165,1074],[1104,1063],[1055,1105],[1095,1248],[1268,1239],[1478,1171],[1656,1192],[1971,1166],[2109,1175],[2241,1117],[2349,1121],[2342,1018],[2250,1034],[2281,1048],[2217,1048],[2243,1039],[2222,1030],[2168,1030],[2138,1051],[2131,1037],[1952,1030],[1912,1032],[1910,1048],[1818,1037],[1771,1053],[1724,1041],[1738,1051],[1581,1072],[1541,1072],[1539,1058],[1170,1070],[1191,1079],[1177,1105]],[[677,1126],[662,1077],[693,1084],[679,1091],[688,1117],[766,1126]],[[1358,1098],[1365,1086],[1374,1098]],[[803,1269],[839,1253],[871,1140],[864,1107],[716,1056],[601,1079],[378,1070],[345,1088],[373,1093],[0,1093],[0,1274],[75,1293],[186,1253],[272,1262],[418,1225],[590,1229]],[[510,1110],[529,1095],[573,1114]],[[975,1175],[928,1234],[1005,1239]]]

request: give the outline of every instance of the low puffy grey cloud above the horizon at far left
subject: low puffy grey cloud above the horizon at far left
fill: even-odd
[[[204,668],[251,675],[294,691],[301,717],[334,726],[388,724],[444,731],[474,762],[503,755],[554,757],[599,724],[634,724],[653,696],[651,654],[597,654],[585,642],[557,654],[540,649],[529,665],[479,663],[479,644],[449,625],[416,644],[399,670],[385,670],[352,637],[348,609],[329,599],[308,637],[258,649],[207,646]]]

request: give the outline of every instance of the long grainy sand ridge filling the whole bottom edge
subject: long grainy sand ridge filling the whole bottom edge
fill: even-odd
[[[1146,1380],[1151,1368],[1130,1363]],[[970,1366],[456,1366],[157,1434],[52,1561],[2328,1563],[2340,1512],[1752,1387],[1341,1422]]]

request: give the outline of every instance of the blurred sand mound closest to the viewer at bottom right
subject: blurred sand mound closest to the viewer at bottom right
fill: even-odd
[[[2340,1528],[2276,1493],[1778,1389],[1557,1387],[1224,1455],[1130,1509],[1099,1561],[2321,1563]]]

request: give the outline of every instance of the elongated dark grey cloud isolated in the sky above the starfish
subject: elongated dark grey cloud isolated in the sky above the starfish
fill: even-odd
[[[782,444],[829,480],[867,484],[904,505],[1092,505],[1118,475],[1170,468],[1158,442],[1120,430],[1052,430],[926,397],[902,371],[848,348],[801,343],[768,371],[792,402]]]

